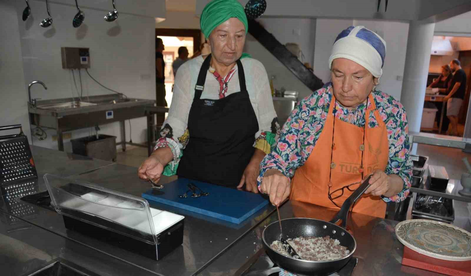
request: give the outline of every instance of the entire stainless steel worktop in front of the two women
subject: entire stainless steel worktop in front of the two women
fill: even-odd
[[[71,176],[75,179],[86,180],[106,188],[136,196],[140,196],[150,186],[146,181],[137,178],[137,169],[133,167],[94,160],[37,146],[32,146],[32,154],[37,164],[38,174],[40,175],[40,178],[37,180],[37,191],[39,192],[46,189],[42,179],[45,173]],[[161,183],[164,184],[174,178],[162,178]],[[168,210],[186,217],[183,245],[165,256],[162,260],[154,261],[107,245],[102,241],[66,230],[62,216],[54,211],[20,201],[17,203],[33,208],[35,212],[35,215],[23,216],[21,213],[18,214],[10,210],[7,204],[5,204],[5,198],[2,198],[0,202],[3,203],[0,205],[0,214],[31,223],[33,225],[32,231],[40,233],[48,230],[49,234],[54,233],[54,236],[51,237],[80,243],[89,250],[89,253],[83,253],[86,256],[93,257],[97,252],[101,252],[106,256],[113,257],[112,264],[115,262],[122,262],[123,266],[129,264],[135,270],[128,275],[145,275],[144,270],[156,275],[166,276],[238,275],[238,273],[242,273],[250,266],[250,263],[255,258],[254,256],[260,252],[262,248],[260,237],[264,226],[277,220],[276,213],[274,212],[275,208],[271,205],[252,215],[241,225],[235,225],[183,209],[151,203],[152,207]],[[285,203],[280,208],[280,212],[282,218],[309,216],[329,220],[333,216],[333,213],[324,207],[296,201]],[[439,275],[401,265],[403,245],[398,242],[394,235],[394,226],[397,222],[361,214],[354,214],[351,218],[350,222],[353,223],[349,223],[349,225],[357,240],[357,251],[354,256],[360,260],[354,275]],[[41,239],[39,234],[34,237]],[[1,239],[5,238],[1,236]],[[21,240],[20,238],[16,239]],[[371,242],[372,240],[375,242]],[[36,247],[41,249],[43,246],[46,245],[40,244]],[[68,246],[65,246],[65,248],[67,249]],[[13,256],[13,258],[16,258],[16,256]],[[76,259],[69,261],[78,262]],[[78,265],[86,267],[92,272],[96,269],[94,264],[95,262],[93,261],[90,261],[88,266],[78,263]],[[119,265],[113,265],[113,267],[121,268]],[[2,271],[11,271],[9,269],[13,269],[13,266],[9,265],[8,262],[0,262],[0,269]],[[104,271],[103,269],[110,270]],[[95,273],[114,275],[113,268],[103,269],[95,270]]]

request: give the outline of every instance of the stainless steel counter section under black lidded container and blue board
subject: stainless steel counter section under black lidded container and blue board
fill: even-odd
[[[87,160],[87,158],[80,158],[74,154],[53,151],[37,146],[32,146],[32,154],[38,168],[39,179],[37,181],[37,190],[39,192],[47,190],[42,176],[49,172],[62,176],[70,176],[73,179],[84,180],[135,196],[141,196],[142,192],[150,188],[148,182],[138,179],[137,168],[106,161]],[[94,166],[96,168],[93,168]],[[175,177],[163,177],[161,183],[166,183],[173,179]],[[5,201],[5,198],[3,200]],[[225,251],[228,246],[234,244],[247,232],[250,232],[275,209],[268,205],[245,222],[234,224],[151,202],[151,207],[168,210],[186,217],[183,245],[172,251],[162,260],[154,261],[74,231],[66,230],[62,215],[57,214],[55,211],[33,206],[23,201],[20,204],[34,209],[36,215],[21,218],[33,225],[47,229],[64,238],[78,241],[104,253],[111,254],[115,258],[128,261],[137,267],[166,276],[195,274],[213,258]],[[9,212],[6,204],[3,204],[0,210]]]

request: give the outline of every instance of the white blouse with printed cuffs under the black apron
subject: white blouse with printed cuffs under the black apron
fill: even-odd
[[[156,148],[160,146],[169,146],[171,148],[174,157],[171,164],[169,164],[171,170],[179,162],[180,153],[188,142],[187,139],[181,139],[181,137],[187,130],[188,114],[195,96],[195,85],[203,61],[203,57],[200,55],[183,63],[175,77],[171,107],[160,132],[162,138],[159,139],[159,141],[165,139],[167,142],[162,141],[164,143],[159,143],[157,141],[156,145]],[[277,130],[279,132],[267,71],[263,64],[255,59],[244,58],[241,62],[244,66],[245,85],[249,99],[259,124],[259,131],[255,134],[255,138],[264,140],[267,131],[275,134]],[[227,84],[226,96],[240,91],[237,64],[235,64],[235,69],[233,77]],[[201,99],[219,100],[219,82],[211,72],[206,74]],[[169,129],[168,126],[171,128]],[[269,144],[273,146],[272,143]],[[258,148],[256,145],[261,145],[261,143],[256,141],[254,146]],[[262,148],[260,149],[267,152]]]

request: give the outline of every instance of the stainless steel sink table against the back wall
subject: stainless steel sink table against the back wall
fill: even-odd
[[[57,130],[57,148],[64,151],[65,131],[94,127],[100,124],[120,122],[121,146],[126,150],[124,121],[146,116],[145,107],[153,107],[155,100],[122,99],[116,94],[83,97],[91,106],[60,108],[54,105],[73,102],[74,98],[37,101],[36,107],[28,105],[30,122],[33,125]],[[43,107],[43,108],[41,108]],[[112,115],[107,115],[112,111]],[[138,145],[140,146],[140,145]]]

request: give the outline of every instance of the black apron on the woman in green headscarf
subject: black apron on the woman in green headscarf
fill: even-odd
[[[245,86],[244,68],[237,60],[240,92],[219,100],[200,99],[211,55],[203,62],[188,115],[190,138],[177,175],[235,187],[254,153],[259,125]]]

